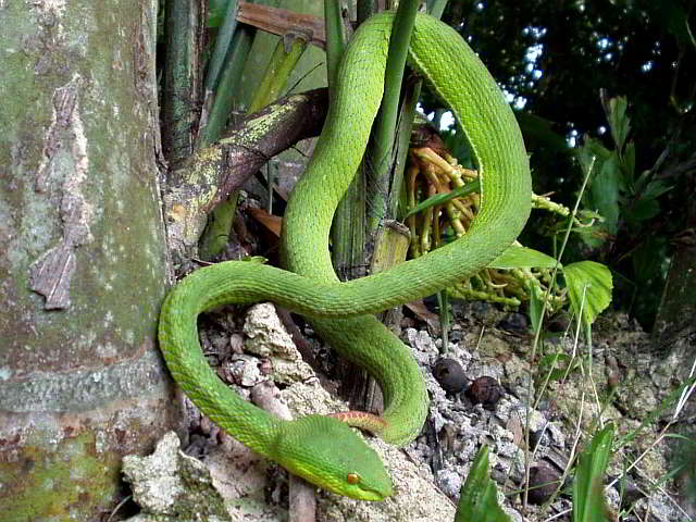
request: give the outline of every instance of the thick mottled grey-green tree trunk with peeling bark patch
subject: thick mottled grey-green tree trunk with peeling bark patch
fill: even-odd
[[[157,1],[0,2],[0,513],[99,520],[178,412]]]

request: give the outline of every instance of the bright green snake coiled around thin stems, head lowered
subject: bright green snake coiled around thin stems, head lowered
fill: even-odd
[[[307,315],[332,348],[380,383],[385,410],[372,430],[397,445],[420,432],[428,406],[423,376],[406,346],[369,314],[432,295],[498,257],[527,220],[531,177],[522,135],[494,78],[452,28],[419,14],[409,64],[463,127],[480,170],[481,209],[462,238],[388,271],[338,282],[328,231],[380,107],[393,18],[388,12],[371,17],[344,53],[322,135],[285,212],[281,253],[288,271],[244,261],[200,269],[167,295],[159,325],[172,376],[211,420],[307,481],[364,500],[394,493],[376,452],[345,422],[322,415],[282,421],[232,391],[201,352],[197,316],[262,300]]]

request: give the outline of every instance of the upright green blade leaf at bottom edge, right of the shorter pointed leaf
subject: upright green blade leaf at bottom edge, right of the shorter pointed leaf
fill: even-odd
[[[611,455],[613,424],[597,433],[580,456],[573,483],[573,522],[606,522],[604,475]]]

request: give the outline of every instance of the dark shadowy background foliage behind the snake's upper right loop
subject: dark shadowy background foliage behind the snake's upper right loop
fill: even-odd
[[[583,207],[605,221],[563,261],[609,265],[614,306],[648,330],[694,189],[694,3],[450,1],[444,14],[513,102],[537,194],[572,206],[580,146],[597,156]],[[549,251],[562,224],[536,224],[522,241]]]

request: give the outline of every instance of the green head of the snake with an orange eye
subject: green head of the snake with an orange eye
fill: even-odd
[[[336,419],[284,422],[275,444],[283,468],[332,493],[359,500],[383,500],[394,493],[376,451]]]

